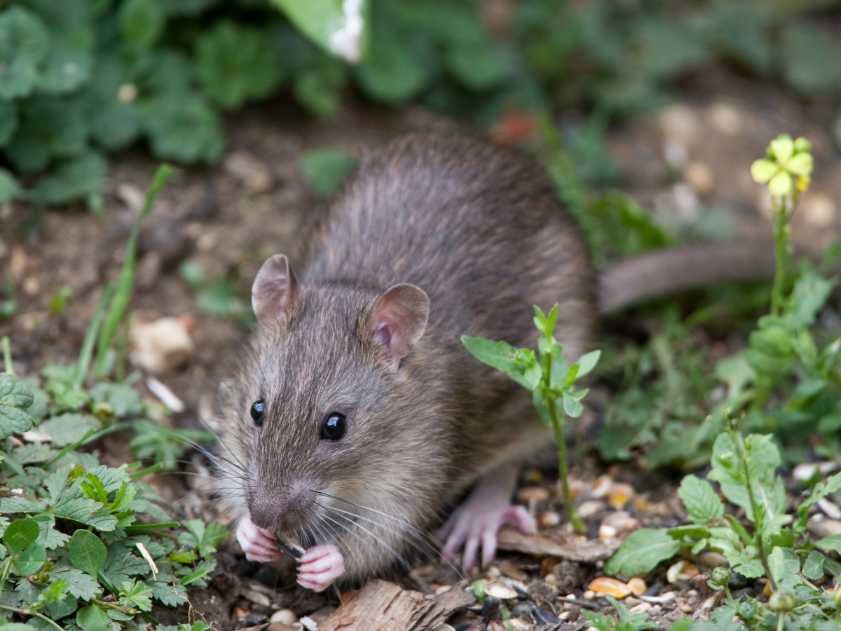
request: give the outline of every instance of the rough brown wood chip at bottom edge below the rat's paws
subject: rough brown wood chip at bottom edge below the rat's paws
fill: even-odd
[[[437,596],[405,590],[387,581],[368,581],[319,624],[320,631],[421,631],[433,628],[452,612],[475,602],[460,586]]]

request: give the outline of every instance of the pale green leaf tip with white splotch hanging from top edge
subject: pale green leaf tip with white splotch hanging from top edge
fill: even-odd
[[[347,61],[358,61],[364,52],[368,0],[271,0],[290,22],[324,50]]]

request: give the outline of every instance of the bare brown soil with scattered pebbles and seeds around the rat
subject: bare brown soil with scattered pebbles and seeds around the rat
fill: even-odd
[[[607,145],[621,171],[620,188],[653,209],[664,225],[756,236],[770,234],[764,210],[768,204],[748,166],[780,132],[806,135],[814,143],[817,171],[794,231],[796,241],[813,249],[837,236],[841,225],[839,111],[837,101],[806,103],[768,84],[712,72],[694,77],[679,103],[612,129]],[[235,278],[241,294],[247,295],[260,263],[276,252],[294,255],[304,220],[325,203],[301,176],[302,152],[343,148],[360,154],[399,131],[442,124],[421,109],[389,114],[349,105],[335,119],[314,121],[288,103],[265,103],[228,121],[230,144],[219,166],[177,170],[146,221],[132,305],[135,323],[164,316],[187,316],[190,322],[195,352],[188,365],[157,375],[187,406],[174,419],[179,427],[201,427],[212,416],[214,390],[230,373],[246,332],[198,310],[193,292],[177,273],[178,264],[189,258],[208,277]],[[138,200],[155,168],[141,148],[114,156],[102,217],[81,205],[46,211],[19,203],[0,208],[0,268],[13,278],[18,300],[15,314],[0,322],[0,336],[11,337],[18,374],[34,375],[46,363],[70,363],[77,357],[103,284],[119,275]],[[66,310],[50,315],[50,298],[63,286],[71,288]],[[608,403],[609,395],[599,393]],[[527,471],[520,499],[536,509],[545,525],[542,532],[563,533],[563,517],[553,524],[553,516],[563,510],[551,475],[542,469]],[[608,467],[584,458],[574,465],[573,479],[582,496],[590,498],[587,522],[595,539],[606,523],[621,534],[637,523],[673,525],[683,517],[674,494],[678,474],[669,478],[638,464]],[[182,478],[161,477],[156,484],[181,517],[219,517],[213,502],[202,501],[204,496],[193,493],[182,499],[191,490]],[[611,489],[621,490],[624,501],[611,500]],[[526,592],[509,605],[527,613],[526,620],[547,625],[536,628],[584,628],[581,607],[606,606],[604,599],[585,594],[600,575],[601,556],[559,560],[505,551],[491,569],[464,576],[506,576],[525,586]],[[715,602],[703,570],[688,569],[677,578],[648,576],[645,590],[653,600],[645,604],[629,597],[626,602],[647,609],[660,628],[684,614],[704,616]],[[411,589],[435,591],[458,582],[460,575],[427,563],[412,575],[393,578]],[[278,575],[247,563],[230,540],[213,586],[193,595],[189,610],[160,612],[160,618],[171,623],[204,618],[219,629],[264,628],[267,616],[278,609],[291,609],[294,618],[320,619],[337,602],[335,594],[296,588],[283,570]],[[484,628],[481,612],[469,609],[455,613],[450,623]],[[283,628],[278,624],[272,628]],[[499,628],[494,624],[487,628]]]

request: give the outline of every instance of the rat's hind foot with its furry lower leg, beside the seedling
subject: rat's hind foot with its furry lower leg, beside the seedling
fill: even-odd
[[[515,466],[506,465],[505,470],[485,476],[447,519],[438,531],[438,536],[445,539],[441,553],[445,563],[451,563],[458,549],[464,547],[462,565],[469,570],[476,565],[481,546],[482,566],[489,565],[496,554],[496,533],[505,525],[524,533],[537,532],[534,518],[526,508],[510,504],[516,472]]]

